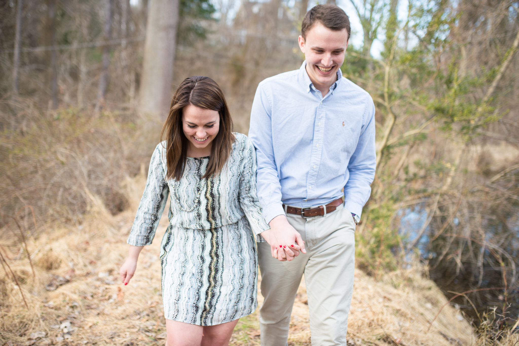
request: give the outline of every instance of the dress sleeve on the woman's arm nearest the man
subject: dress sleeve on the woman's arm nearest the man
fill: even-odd
[[[243,163],[240,177],[240,206],[249,220],[256,241],[264,242],[261,232],[270,229],[262,215],[260,201],[256,192],[256,152],[252,142],[247,138],[243,150]]]

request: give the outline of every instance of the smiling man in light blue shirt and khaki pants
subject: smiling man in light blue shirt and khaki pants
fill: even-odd
[[[262,81],[254,97],[249,136],[270,225],[258,243],[262,345],[287,344],[303,273],[312,345],[346,345],[354,230],[376,165],[373,100],[339,69],[349,35],[342,9],[313,7],[299,36],[305,62]]]

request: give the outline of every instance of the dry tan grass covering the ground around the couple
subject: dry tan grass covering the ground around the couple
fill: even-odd
[[[0,344],[5,345],[162,345],[165,344],[160,293],[159,241],[146,246],[128,286],[118,268],[145,179],[124,184],[130,207],[113,216],[91,195],[89,214],[79,226],[53,226],[30,239],[36,276],[23,251],[7,255],[20,287],[0,273]],[[162,217],[157,237],[167,226]],[[49,226],[50,227],[50,226]],[[419,270],[393,272],[379,280],[357,270],[348,328],[349,345],[475,345],[469,323],[447,306],[440,290]],[[47,290],[46,286],[53,290]],[[23,293],[30,309],[25,307]],[[258,294],[260,303],[261,294]],[[241,319],[232,345],[259,345],[257,311]],[[309,345],[309,316],[304,281],[299,287],[290,325],[290,345]],[[70,326],[70,327],[69,327]],[[512,345],[515,337],[501,341]],[[486,341],[485,341],[486,342]],[[491,343],[486,343],[490,345]]]

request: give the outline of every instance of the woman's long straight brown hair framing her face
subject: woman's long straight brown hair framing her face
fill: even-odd
[[[160,140],[164,137],[166,139],[167,179],[180,180],[184,171],[188,139],[182,129],[182,111],[188,105],[217,110],[220,114],[220,129],[212,142],[209,164],[202,178],[220,172],[233,150],[233,119],[230,117],[224,93],[209,77],[188,77],[176,89],[168,118],[160,132]]]

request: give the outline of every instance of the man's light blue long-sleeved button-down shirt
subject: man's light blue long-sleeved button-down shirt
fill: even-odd
[[[376,168],[375,106],[337,72],[323,97],[306,72],[281,73],[256,90],[249,137],[256,147],[257,193],[267,222],[282,203],[310,207],[343,195],[360,216]]]

